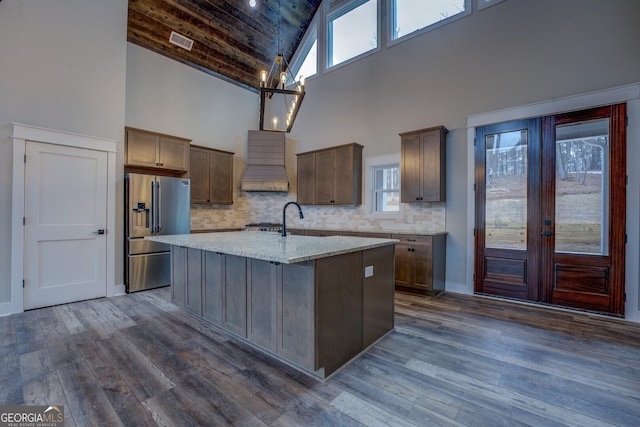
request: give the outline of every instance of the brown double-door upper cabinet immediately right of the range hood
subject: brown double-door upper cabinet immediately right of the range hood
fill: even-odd
[[[362,148],[353,143],[298,154],[298,203],[362,204]]]

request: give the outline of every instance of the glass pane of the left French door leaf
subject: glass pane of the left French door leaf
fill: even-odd
[[[485,136],[485,247],[527,249],[527,130]]]

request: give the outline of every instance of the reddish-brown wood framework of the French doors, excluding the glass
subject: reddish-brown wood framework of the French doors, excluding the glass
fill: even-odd
[[[556,126],[607,118],[609,174],[607,250],[602,255],[556,252]],[[624,315],[626,237],[626,104],[541,117],[529,129],[526,249],[487,248],[485,230],[486,135],[524,129],[519,120],[476,128],[476,293]],[[604,233],[604,231],[603,231]]]

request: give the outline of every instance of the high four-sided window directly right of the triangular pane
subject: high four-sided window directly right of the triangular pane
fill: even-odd
[[[378,2],[360,0],[329,14],[328,67],[378,47]]]

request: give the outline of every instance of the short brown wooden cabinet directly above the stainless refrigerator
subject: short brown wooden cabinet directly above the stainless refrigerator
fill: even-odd
[[[191,140],[126,128],[127,166],[189,171],[189,143]]]

